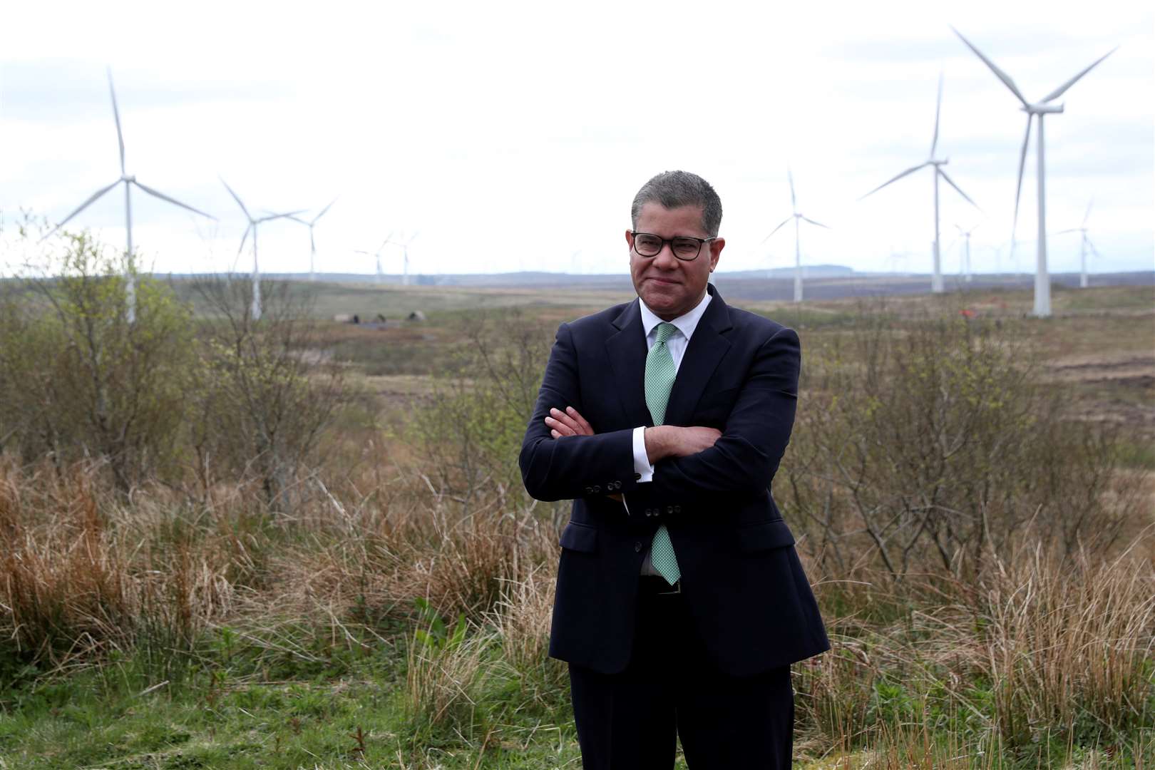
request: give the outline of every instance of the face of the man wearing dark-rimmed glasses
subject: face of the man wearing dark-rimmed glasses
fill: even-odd
[[[638,215],[636,231],[664,239],[677,236],[709,238],[709,233],[702,230],[702,209],[698,205],[668,209],[661,203],[646,203]],[[629,275],[634,290],[663,321],[688,313],[701,301],[710,272],[725,246],[725,240],[721,238],[702,244],[698,259],[686,262],[673,255],[670,244],[663,244],[656,256],[640,255],[634,249],[634,236],[628,230],[626,242],[629,244]]]

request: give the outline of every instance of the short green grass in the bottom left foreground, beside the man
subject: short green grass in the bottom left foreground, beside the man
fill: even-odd
[[[457,722],[410,715],[402,636],[310,663],[222,638],[176,680],[136,655],[8,689],[0,768],[537,769],[579,756],[564,701],[527,700],[512,676]]]

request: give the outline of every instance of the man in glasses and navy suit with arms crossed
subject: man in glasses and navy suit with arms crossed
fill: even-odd
[[[708,285],[725,240],[700,177],[658,174],[626,231],[639,299],[562,323],[521,450],[573,499],[550,655],[569,663],[587,769],[789,768],[790,664],[829,649],[770,498],[793,330]]]

